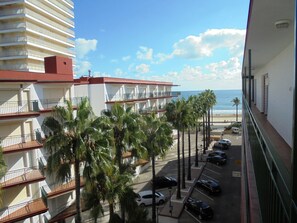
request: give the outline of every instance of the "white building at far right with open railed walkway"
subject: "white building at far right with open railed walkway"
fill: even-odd
[[[297,222],[296,41],[296,1],[250,1],[242,67],[242,222]]]

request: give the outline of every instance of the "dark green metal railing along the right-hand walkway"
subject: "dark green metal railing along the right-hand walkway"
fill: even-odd
[[[291,203],[288,171],[246,100],[243,106],[263,222],[287,222]]]

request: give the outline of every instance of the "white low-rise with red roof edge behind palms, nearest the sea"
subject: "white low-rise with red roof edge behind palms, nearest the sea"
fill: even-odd
[[[132,106],[135,112],[162,114],[165,105],[179,92],[172,92],[172,82],[134,80],[111,77],[75,79],[75,96],[88,97],[97,116],[114,103]]]

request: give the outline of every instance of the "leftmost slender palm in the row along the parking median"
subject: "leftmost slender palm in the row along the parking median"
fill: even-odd
[[[184,103],[182,100],[178,99],[176,101],[171,101],[166,105],[165,116],[167,120],[172,123],[173,127],[177,129],[177,193],[176,199],[181,199],[180,191],[180,130],[182,130],[182,117],[183,117],[183,107]]]

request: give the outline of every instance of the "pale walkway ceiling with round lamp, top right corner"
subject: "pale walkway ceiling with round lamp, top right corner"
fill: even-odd
[[[251,0],[243,68],[248,67],[251,49],[252,68],[258,70],[294,40],[294,0]],[[289,19],[287,29],[277,29],[275,22]],[[254,72],[255,72],[254,71]]]

